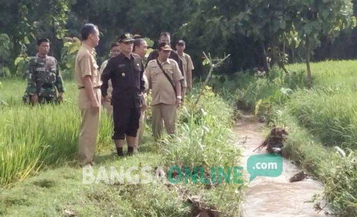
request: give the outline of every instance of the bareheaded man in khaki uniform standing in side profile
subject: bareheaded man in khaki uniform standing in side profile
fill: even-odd
[[[80,165],[92,165],[100,119],[100,74],[95,60],[99,31],[94,24],[82,28],[82,46],[75,58],[75,80],[79,89],[78,103],[82,114],[79,138]]]

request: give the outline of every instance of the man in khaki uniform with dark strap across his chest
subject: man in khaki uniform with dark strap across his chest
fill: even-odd
[[[162,120],[168,134],[175,133],[176,110],[181,105],[181,74],[177,62],[169,59],[171,47],[160,43],[159,57],[148,62],[145,74],[152,90],[152,132],[159,139],[162,134]],[[165,74],[166,75],[165,75]]]

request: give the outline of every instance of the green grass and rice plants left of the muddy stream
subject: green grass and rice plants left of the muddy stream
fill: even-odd
[[[4,159],[0,161],[0,215],[187,216],[195,214],[187,202],[193,195],[224,216],[239,215],[242,185],[237,184],[83,184],[76,156],[80,112],[75,85],[66,82],[63,104],[31,107],[21,104],[22,91],[13,91],[24,89],[24,82],[1,82],[0,98],[6,105],[0,108],[0,118],[5,121],[0,126],[0,158]],[[121,166],[200,166],[203,162],[225,166],[238,162],[230,131],[232,107],[207,89],[194,108],[196,93],[188,96],[180,110],[177,137],[154,142],[147,125],[140,153],[132,157],[116,157],[110,140],[112,122],[103,114],[95,174],[101,166],[119,170]]]

